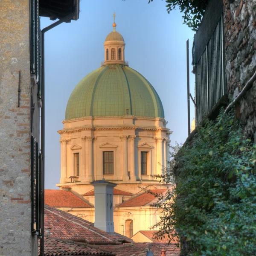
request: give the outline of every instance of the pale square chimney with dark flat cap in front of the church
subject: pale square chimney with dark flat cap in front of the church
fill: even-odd
[[[113,188],[115,183],[102,180],[90,182],[94,186],[94,227],[105,232],[114,233],[113,222]]]

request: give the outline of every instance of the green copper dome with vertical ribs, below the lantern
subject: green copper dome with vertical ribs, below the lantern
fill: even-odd
[[[136,70],[119,64],[104,65],[85,76],[66,108],[66,119],[124,115],[164,118],[154,87]]]

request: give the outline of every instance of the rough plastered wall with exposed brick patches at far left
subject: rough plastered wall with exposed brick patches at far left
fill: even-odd
[[[0,1],[0,255],[31,255],[29,0]],[[20,107],[17,106],[20,71]],[[36,246],[35,241],[35,246]]]

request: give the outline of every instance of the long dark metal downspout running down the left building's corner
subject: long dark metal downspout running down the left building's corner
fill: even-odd
[[[49,31],[50,29],[53,29],[55,26],[60,25],[63,22],[66,22],[67,20],[72,19],[74,16],[77,15],[78,7],[77,4],[75,6],[74,12],[71,14],[61,18],[60,20],[56,21],[55,23],[52,23],[51,25],[45,27],[41,30],[42,33],[42,108],[41,108],[41,154],[42,154],[42,238],[40,241],[40,256],[44,256],[44,157],[45,157],[45,90],[44,90],[44,84],[45,84],[45,73],[44,73],[44,34],[45,32]]]

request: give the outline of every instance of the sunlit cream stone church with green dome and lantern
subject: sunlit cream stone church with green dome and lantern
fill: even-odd
[[[61,178],[57,186],[83,196],[93,206],[90,183],[102,179],[116,183],[115,232],[131,237],[150,230],[160,214],[150,206],[153,198],[143,188],[164,192],[170,186],[154,175],[165,172],[172,132],[166,128],[156,90],[125,61],[125,41],[115,21],[104,51],[101,67],[85,76],[68,100],[64,128],[58,131]],[[94,222],[90,207],[69,212]]]

